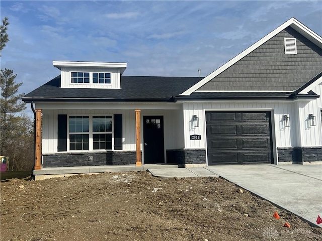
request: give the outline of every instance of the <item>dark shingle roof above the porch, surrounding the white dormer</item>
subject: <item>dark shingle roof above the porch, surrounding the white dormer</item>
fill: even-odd
[[[202,77],[154,77],[154,76],[121,76],[121,89],[94,88],[60,88],[60,75],[26,94],[23,98],[30,101],[46,99],[82,100],[149,100],[170,101],[199,82]],[[43,99],[45,100],[45,99]]]

